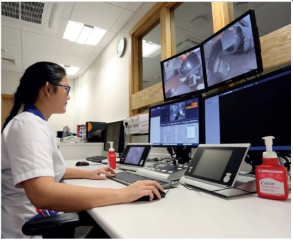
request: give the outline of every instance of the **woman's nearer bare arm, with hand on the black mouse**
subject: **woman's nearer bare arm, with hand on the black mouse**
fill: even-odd
[[[138,181],[121,189],[81,187],[66,183],[56,183],[53,177],[42,176],[23,181],[22,185],[28,199],[36,208],[76,212],[93,207],[131,203],[142,196],[153,194],[161,198],[158,190],[163,191],[155,181]]]

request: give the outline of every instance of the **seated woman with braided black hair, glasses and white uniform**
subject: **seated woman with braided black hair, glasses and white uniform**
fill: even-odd
[[[155,194],[162,187],[138,181],[122,189],[80,187],[59,183],[68,178],[106,179],[111,167],[92,171],[68,168],[48,127],[53,113],[65,113],[70,86],[62,66],[37,62],[23,74],[15,104],[1,134],[1,230],[4,238],[23,238],[22,225],[37,214],[36,208],[77,212],[93,207],[131,203]],[[17,115],[21,105],[24,110]]]

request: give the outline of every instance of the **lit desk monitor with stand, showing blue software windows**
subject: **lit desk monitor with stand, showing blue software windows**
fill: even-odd
[[[178,163],[187,163],[191,147],[202,140],[201,95],[149,108],[149,142],[175,150]]]

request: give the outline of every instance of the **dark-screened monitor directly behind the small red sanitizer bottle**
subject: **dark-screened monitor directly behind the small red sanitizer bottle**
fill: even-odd
[[[106,133],[104,140],[104,151],[108,151],[110,145],[108,142],[114,142],[113,148],[118,154],[124,151],[125,131],[123,121],[108,122],[106,124]]]

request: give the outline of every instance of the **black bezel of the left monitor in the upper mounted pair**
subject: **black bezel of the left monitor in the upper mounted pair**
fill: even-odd
[[[160,68],[161,68],[161,77],[162,77],[162,90],[163,90],[163,97],[164,97],[164,102],[168,102],[168,101],[171,101],[171,100],[176,100],[176,99],[180,99],[180,98],[188,98],[189,96],[191,95],[198,95],[199,93],[204,93],[206,91],[206,88],[207,88],[207,79],[206,79],[206,75],[205,75],[205,72],[204,72],[204,61],[205,61],[205,58],[203,57],[202,55],[202,45],[201,44],[198,44],[196,46],[193,46],[192,48],[189,48],[187,50],[184,50],[176,55],[173,55],[172,57],[169,57],[167,59],[164,59],[160,62]],[[202,74],[203,74],[203,80],[204,80],[204,89],[200,89],[198,91],[192,91],[192,92],[189,92],[189,93],[183,93],[183,94],[180,94],[180,95],[176,95],[176,96],[173,96],[173,97],[169,97],[167,98],[167,95],[166,95],[166,91],[165,91],[165,82],[164,82],[164,62],[168,62],[169,60],[171,59],[174,59],[176,57],[179,57],[180,55],[184,55],[185,53],[188,53],[192,50],[196,50],[196,49],[199,49],[200,50],[200,60],[202,62]]]

